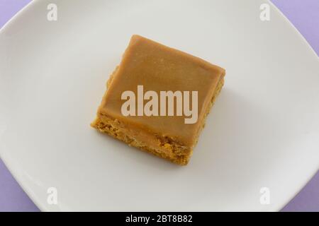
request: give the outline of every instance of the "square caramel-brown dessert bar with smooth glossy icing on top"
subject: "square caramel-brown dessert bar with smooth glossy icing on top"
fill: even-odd
[[[128,145],[179,165],[186,165],[205,125],[206,116],[223,86],[224,76],[225,70],[219,66],[145,37],[133,35],[121,64],[108,79],[106,93],[91,126]],[[177,104],[185,105],[185,102],[177,101],[178,95],[173,97],[173,115],[156,114],[155,111],[151,115],[145,112],[123,114],[123,105],[128,101],[127,96],[123,98],[125,91],[135,94],[136,104],[130,105],[131,109],[128,109],[133,113],[135,109],[136,112],[143,109],[142,107],[150,101],[150,97],[147,99],[144,96],[143,99],[138,96],[145,95],[147,91],[152,91],[152,98],[155,98],[154,94],[158,94],[155,98],[157,100],[154,100],[158,103],[162,103],[162,100],[159,100],[162,91],[188,91],[188,96],[179,97],[189,97],[190,109],[191,106],[196,107],[193,109],[197,112],[196,120],[186,123],[185,119],[190,117],[189,114],[176,114]],[[194,91],[197,93],[197,99],[192,100]],[[194,101],[197,105],[192,105]],[[165,113],[168,111],[168,105],[167,101],[163,105],[158,105],[158,108],[164,107]]]

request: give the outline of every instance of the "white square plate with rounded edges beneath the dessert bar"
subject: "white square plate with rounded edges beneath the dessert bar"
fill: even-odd
[[[279,210],[317,171],[318,57],[267,1],[50,2],[0,33],[0,154],[41,210]],[[89,126],[133,34],[227,70],[186,167]]]

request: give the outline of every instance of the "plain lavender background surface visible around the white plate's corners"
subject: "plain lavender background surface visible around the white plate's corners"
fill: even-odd
[[[0,28],[31,0],[0,0]],[[319,0],[272,0],[319,55]],[[0,211],[39,211],[0,160]],[[319,172],[282,211],[319,211]]]

